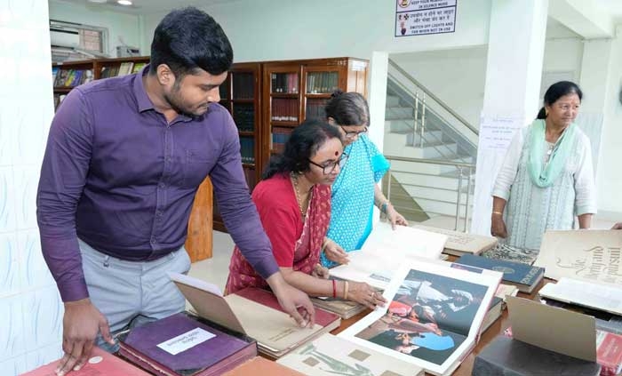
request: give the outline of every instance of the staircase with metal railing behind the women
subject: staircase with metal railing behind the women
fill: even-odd
[[[409,221],[468,220],[477,130],[389,60],[383,190]],[[390,185],[389,185],[390,181]]]

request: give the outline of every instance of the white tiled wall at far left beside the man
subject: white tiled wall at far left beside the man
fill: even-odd
[[[53,112],[47,1],[0,2],[0,45],[0,375],[12,376],[61,355],[35,204]]]

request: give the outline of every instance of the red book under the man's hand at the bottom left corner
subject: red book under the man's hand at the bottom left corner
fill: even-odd
[[[34,371],[23,373],[22,376],[56,376],[59,361],[45,364]],[[69,373],[75,376],[149,376],[147,372],[136,368],[123,359],[94,347],[91,357],[80,371]]]

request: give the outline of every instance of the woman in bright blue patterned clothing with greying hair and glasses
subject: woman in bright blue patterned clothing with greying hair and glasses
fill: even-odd
[[[323,244],[322,263],[347,262],[347,252],[360,249],[371,232],[373,207],[387,213],[392,225],[408,225],[385,197],[378,182],[389,164],[367,136],[370,110],[357,92],[334,92],[326,105],[329,124],[339,127],[347,164],[332,185],[331,224]]]

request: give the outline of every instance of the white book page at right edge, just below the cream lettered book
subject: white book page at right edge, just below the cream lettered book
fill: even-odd
[[[556,284],[546,284],[538,294],[546,299],[599,309],[622,316],[622,285],[562,277]]]

